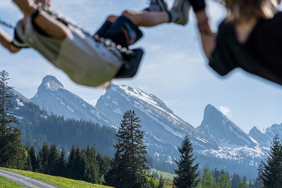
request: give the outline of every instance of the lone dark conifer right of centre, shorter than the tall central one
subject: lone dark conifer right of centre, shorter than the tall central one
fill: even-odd
[[[178,188],[196,187],[200,182],[197,180],[199,163],[193,165],[196,157],[193,156],[192,144],[187,136],[183,139],[181,147],[178,147],[178,151],[180,160],[176,161],[178,170],[174,170],[176,177],[173,178],[173,184]]]

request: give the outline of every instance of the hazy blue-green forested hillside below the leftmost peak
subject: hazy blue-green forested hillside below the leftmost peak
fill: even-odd
[[[23,144],[35,146],[39,149],[44,141],[48,143],[54,140],[59,149],[70,151],[73,144],[81,147],[87,144],[95,145],[99,151],[110,156],[114,154],[116,144],[116,130],[111,127],[87,122],[84,120],[65,120],[62,116],[49,115],[39,106],[21,101],[13,96],[16,108],[13,111],[20,120],[18,126],[22,132]]]

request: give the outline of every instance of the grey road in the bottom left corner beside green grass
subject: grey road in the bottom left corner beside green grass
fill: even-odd
[[[31,188],[55,188],[56,186],[47,184],[44,182],[40,182],[39,180],[35,180],[31,177],[26,177],[23,175],[18,175],[16,173],[11,173],[6,170],[0,170],[0,175],[6,177],[13,182],[20,184],[23,187],[31,187]]]

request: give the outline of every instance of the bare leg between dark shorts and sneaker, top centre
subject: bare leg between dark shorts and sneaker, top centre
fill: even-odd
[[[125,17],[130,19],[135,25],[140,27],[153,27],[160,25],[162,23],[168,23],[169,16],[168,13],[162,12],[135,12],[135,11],[124,11],[123,14]]]

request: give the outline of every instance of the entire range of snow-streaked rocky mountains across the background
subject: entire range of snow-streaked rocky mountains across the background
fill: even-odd
[[[201,165],[209,163],[211,168],[248,173],[249,177],[257,175],[256,170],[269,152],[274,134],[282,137],[282,124],[272,125],[266,130],[253,127],[246,134],[211,104],[204,109],[201,125],[195,128],[173,113],[154,94],[125,85],[113,84],[106,89],[96,106],[69,92],[51,75],[43,78],[32,99],[16,91],[15,94],[18,95],[19,106],[22,101],[31,101],[49,114],[114,128],[120,125],[125,111],[135,111],[145,133],[147,151],[154,160],[174,163],[179,158],[178,146],[188,135]]]

